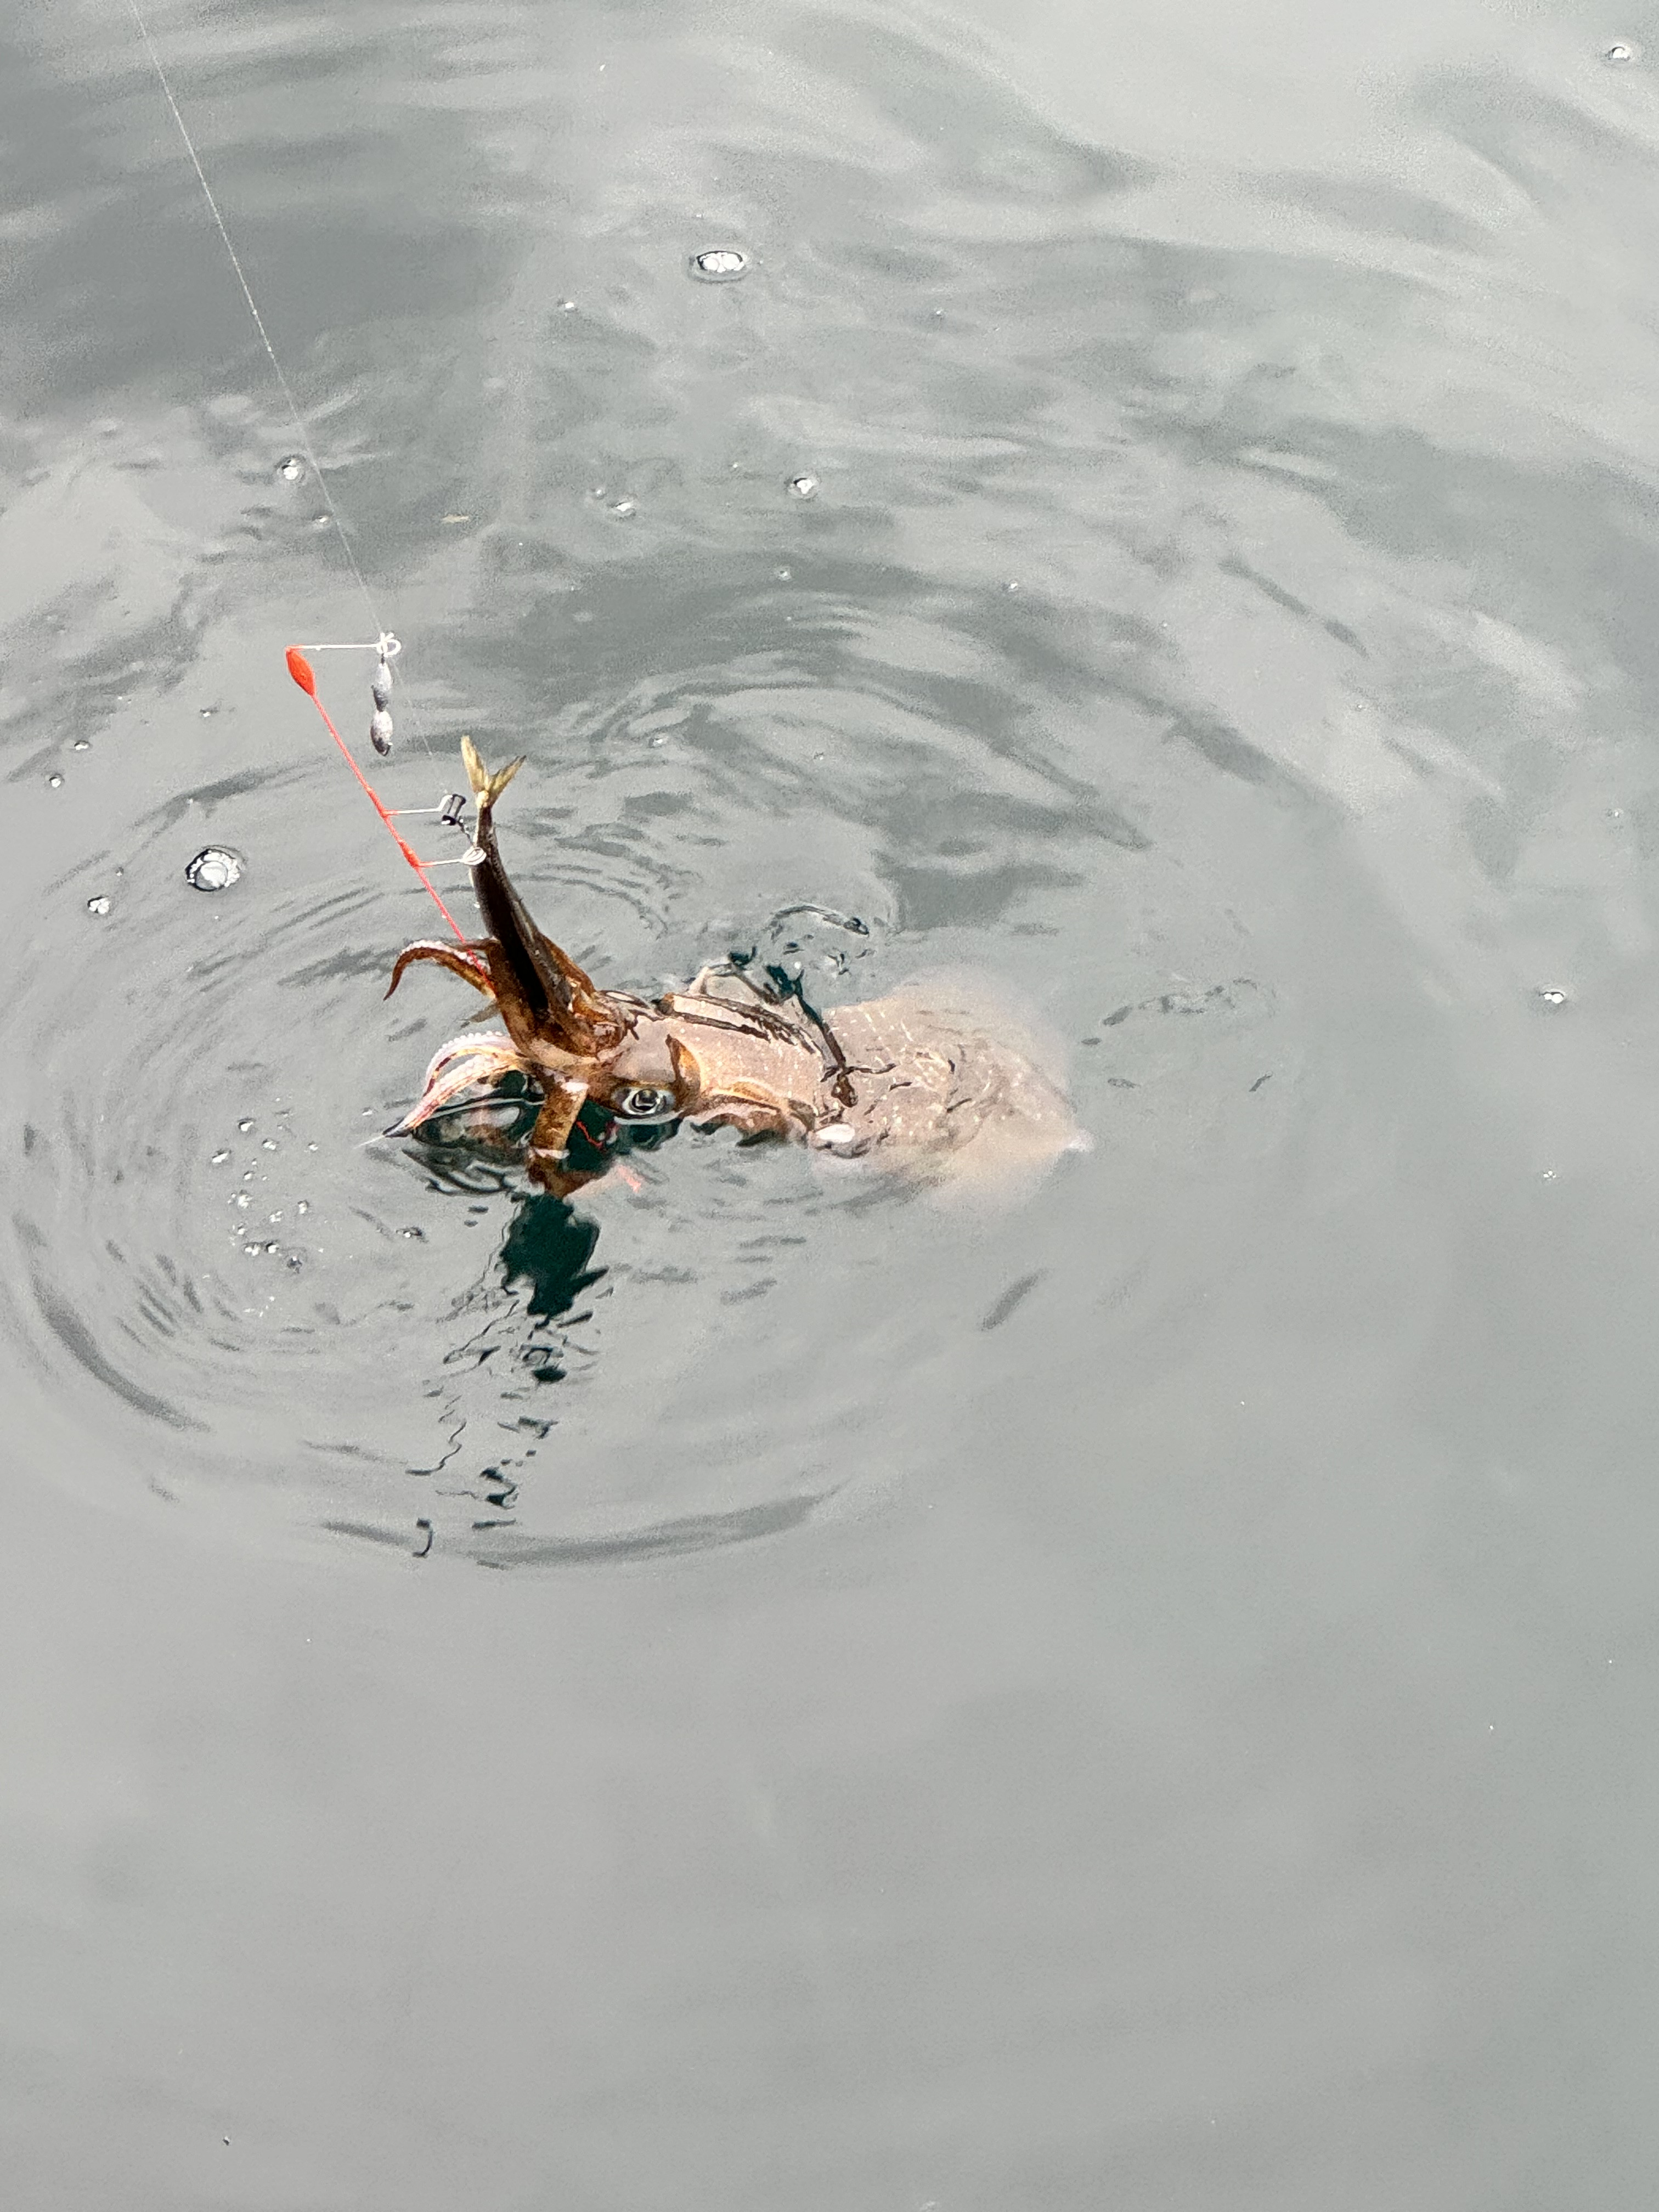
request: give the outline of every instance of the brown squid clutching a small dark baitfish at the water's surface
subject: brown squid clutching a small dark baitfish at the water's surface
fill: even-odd
[[[524,1075],[542,1106],[529,1175],[568,1194],[606,1172],[571,1166],[582,1106],[619,1121],[697,1121],[774,1135],[843,1157],[876,1155],[916,1172],[1006,1179],[1077,1146],[1064,1093],[998,1035],[962,993],[894,993],[818,1020],[774,1002],[730,967],[644,1000],[602,991],[531,920],[495,845],[493,807],[522,768],[484,768],[462,739],[478,805],[471,852],[484,936],[398,953],[387,998],[431,962],[489,998],[507,1035],[456,1037],[434,1057],[420,1099],[389,1135],[407,1135],[469,1088]],[[471,1073],[469,1073],[471,1071]]]

